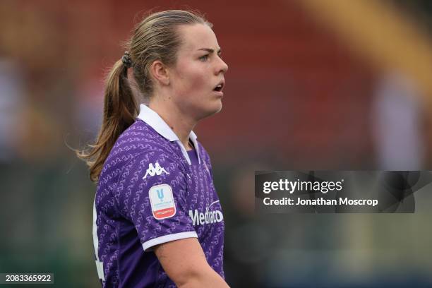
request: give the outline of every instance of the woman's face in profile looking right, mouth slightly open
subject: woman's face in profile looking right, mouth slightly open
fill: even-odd
[[[195,120],[220,112],[224,73],[215,33],[208,25],[181,25],[176,64],[169,68],[172,98],[180,112]]]

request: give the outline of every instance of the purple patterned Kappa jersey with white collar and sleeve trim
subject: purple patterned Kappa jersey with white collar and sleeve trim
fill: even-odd
[[[141,104],[104,163],[93,208],[93,242],[103,287],[175,287],[152,247],[196,237],[224,277],[224,221],[210,157],[195,133],[186,151]]]

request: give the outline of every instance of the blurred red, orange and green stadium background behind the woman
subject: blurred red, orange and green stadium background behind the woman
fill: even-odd
[[[0,272],[100,287],[92,184],[67,147],[149,9],[192,8],[229,64],[196,129],[224,208],[232,287],[432,287],[432,197],[414,214],[258,215],[255,170],[431,169],[428,0],[0,1]],[[35,286],[32,286],[35,287]]]

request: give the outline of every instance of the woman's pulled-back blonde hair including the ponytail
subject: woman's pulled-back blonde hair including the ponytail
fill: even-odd
[[[167,66],[174,65],[181,44],[176,28],[196,23],[212,27],[197,12],[183,10],[152,13],[136,25],[133,36],[125,45],[127,58],[116,61],[106,78],[102,126],[97,140],[89,145],[90,150],[76,151],[78,157],[88,164],[92,181],[99,179],[117,138],[138,116],[138,104],[128,83],[128,67],[132,68],[138,90],[145,97],[150,97],[153,91],[150,66],[156,60]]]

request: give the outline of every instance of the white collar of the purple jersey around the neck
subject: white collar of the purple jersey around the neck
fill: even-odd
[[[184,148],[183,143],[181,143],[179,137],[176,136],[176,133],[174,133],[174,131],[169,128],[168,124],[164,121],[164,119],[162,119],[161,116],[159,116],[159,114],[150,109],[150,107],[148,107],[147,105],[140,104],[140,114],[138,114],[138,118],[150,125],[153,129],[155,129],[157,133],[160,133],[162,137],[166,138],[171,142],[176,141],[179,144],[181,152],[183,152],[186,161],[189,165],[191,165],[191,159],[189,158],[188,152],[186,151],[186,148]],[[198,152],[198,142],[196,138],[196,134],[191,131],[191,133],[189,134],[189,139],[192,141],[195,148],[198,162],[201,163],[200,153]]]

